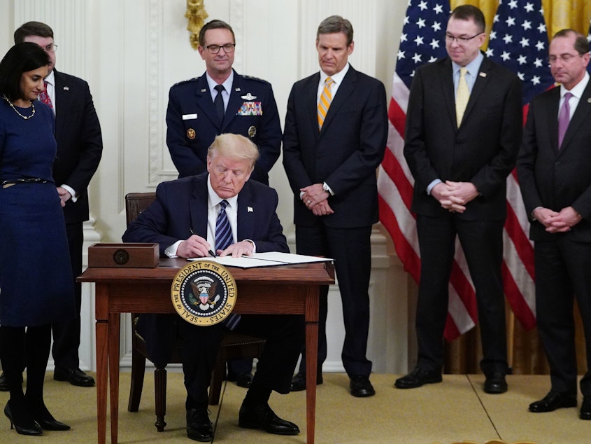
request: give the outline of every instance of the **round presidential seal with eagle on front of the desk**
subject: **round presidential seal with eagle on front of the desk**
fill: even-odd
[[[171,286],[176,312],[191,324],[218,324],[236,305],[236,282],[223,265],[194,261],[179,270]]]

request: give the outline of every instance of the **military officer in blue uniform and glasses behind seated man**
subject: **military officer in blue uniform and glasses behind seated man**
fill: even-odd
[[[279,157],[281,125],[269,82],[232,69],[236,47],[232,27],[221,20],[199,32],[199,54],[206,72],[173,85],[166,111],[166,144],[179,177],[206,171],[207,148],[218,134],[248,137],[259,147],[250,179],[269,184]]]

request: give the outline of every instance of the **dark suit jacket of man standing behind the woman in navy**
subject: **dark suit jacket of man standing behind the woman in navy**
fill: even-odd
[[[53,179],[56,186],[65,183],[78,193],[76,202],[66,202],[66,223],[82,223],[88,220],[88,184],[99,167],[103,153],[101,125],[88,83],[55,69],[53,71],[57,140]]]

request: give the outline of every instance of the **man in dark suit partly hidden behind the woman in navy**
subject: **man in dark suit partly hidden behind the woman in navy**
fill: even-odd
[[[83,222],[89,218],[87,188],[99,167],[103,151],[101,125],[94,110],[88,83],[81,78],[55,69],[53,31],[45,23],[27,22],[14,34],[15,43],[37,43],[50,56],[50,74],[46,91],[40,96],[55,113],[57,155],[53,165],[53,179],[62,199],[66,232],[70,249],[78,316],[71,321],[52,325],[55,362],[53,377],[80,387],[94,386],[94,379],[80,370],[81,285],[76,277],[82,273]]]

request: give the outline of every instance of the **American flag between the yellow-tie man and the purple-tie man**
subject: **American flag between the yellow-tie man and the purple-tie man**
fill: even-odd
[[[523,82],[523,116],[531,99],[551,88],[548,32],[541,0],[499,0],[486,55],[517,73]],[[505,296],[525,328],[536,325],[534,249],[527,239],[529,221],[515,170],[507,178],[507,220],[504,233]]]

